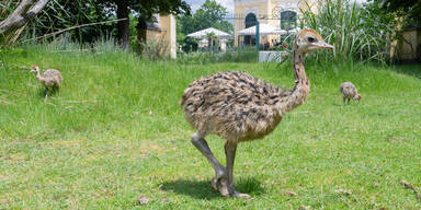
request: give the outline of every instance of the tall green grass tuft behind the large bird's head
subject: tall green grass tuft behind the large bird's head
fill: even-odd
[[[389,59],[394,23],[383,21],[382,14],[368,10],[369,4],[350,0],[306,3],[315,10],[301,9],[301,27],[315,28],[334,45],[333,58],[382,63]]]

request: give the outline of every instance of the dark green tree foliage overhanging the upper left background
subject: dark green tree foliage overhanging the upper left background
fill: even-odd
[[[128,20],[153,21],[156,13],[190,14],[190,7],[184,0],[50,0],[45,10],[26,27],[26,36],[36,37],[75,25],[124,18],[124,22],[88,25],[71,31],[71,34],[80,43],[111,35],[117,36],[127,45],[129,27],[133,25]]]

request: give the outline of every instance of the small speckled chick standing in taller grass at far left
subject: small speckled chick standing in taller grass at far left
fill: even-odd
[[[45,98],[48,97],[48,90],[52,89],[59,89],[60,83],[62,81],[61,73],[58,70],[55,69],[48,69],[44,71],[43,74],[39,74],[39,68],[37,66],[31,67],[31,72],[35,73],[36,79],[44,84],[45,86]]]

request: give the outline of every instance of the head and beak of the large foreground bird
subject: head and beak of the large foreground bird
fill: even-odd
[[[333,46],[327,44],[314,30],[301,30],[296,38],[296,44],[298,51],[304,54],[315,51],[316,49],[333,49]]]

